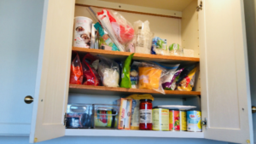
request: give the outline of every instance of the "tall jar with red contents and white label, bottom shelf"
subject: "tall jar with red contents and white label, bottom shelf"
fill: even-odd
[[[152,130],[152,100],[140,101],[140,130]]]

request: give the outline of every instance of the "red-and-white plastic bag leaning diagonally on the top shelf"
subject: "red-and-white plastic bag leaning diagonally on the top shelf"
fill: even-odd
[[[113,10],[102,9],[97,13],[97,18],[120,51],[124,51],[122,44],[131,42],[134,37],[131,24],[125,20],[124,16]]]

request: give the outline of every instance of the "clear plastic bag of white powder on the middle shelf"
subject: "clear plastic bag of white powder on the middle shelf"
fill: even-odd
[[[119,64],[102,55],[98,55],[100,63],[98,73],[102,78],[102,84],[107,87],[119,87]]]

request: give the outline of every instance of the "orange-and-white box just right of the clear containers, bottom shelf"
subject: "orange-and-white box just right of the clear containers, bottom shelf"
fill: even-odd
[[[131,130],[131,105],[132,99],[120,98],[113,101],[113,105],[119,105],[119,130]]]

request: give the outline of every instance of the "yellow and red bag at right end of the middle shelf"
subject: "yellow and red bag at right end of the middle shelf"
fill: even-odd
[[[177,90],[181,91],[192,91],[195,84],[195,72],[198,66],[196,66],[192,71],[189,72],[188,76],[183,78],[183,80],[177,84]]]

